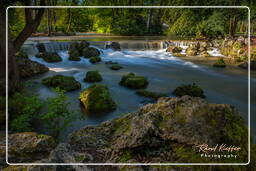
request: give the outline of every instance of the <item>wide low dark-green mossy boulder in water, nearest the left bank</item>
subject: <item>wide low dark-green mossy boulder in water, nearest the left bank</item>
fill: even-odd
[[[81,84],[72,76],[55,75],[42,80],[42,84],[65,91],[72,91],[81,88]]]

